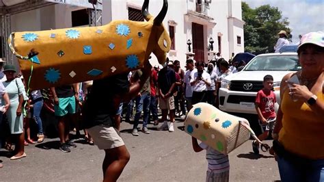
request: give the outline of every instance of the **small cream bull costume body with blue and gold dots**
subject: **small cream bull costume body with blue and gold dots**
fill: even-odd
[[[197,103],[187,114],[185,132],[216,151],[228,154],[249,140],[249,130],[239,121],[249,125],[245,118],[222,112],[208,103]]]

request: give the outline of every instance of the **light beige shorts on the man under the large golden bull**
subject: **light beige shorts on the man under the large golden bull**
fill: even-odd
[[[105,125],[97,125],[87,129],[87,132],[90,133],[94,144],[98,146],[100,150],[117,148],[123,146],[124,141],[120,137],[119,131],[114,127],[107,127]]]

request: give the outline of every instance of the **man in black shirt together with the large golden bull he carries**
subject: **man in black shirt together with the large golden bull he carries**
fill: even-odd
[[[150,53],[157,56],[160,64],[165,62],[171,45],[162,25],[166,13],[167,0],[156,18],[148,14],[148,0],[145,0],[142,7],[148,21],[145,23],[113,21],[102,27],[12,34],[12,50],[21,59],[23,74],[32,75],[31,89],[94,79],[83,104],[83,118],[94,143],[105,151],[103,181],[117,181],[129,162],[129,151],[119,133],[120,123],[113,118],[120,102],[135,97],[150,77]],[[139,68],[143,74],[130,83],[129,71]]]

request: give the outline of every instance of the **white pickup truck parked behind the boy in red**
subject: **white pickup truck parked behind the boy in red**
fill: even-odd
[[[256,114],[256,93],[265,75],[273,76],[273,90],[280,103],[280,82],[287,73],[300,70],[297,53],[267,53],[254,57],[239,73],[225,77],[219,89],[219,109]]]

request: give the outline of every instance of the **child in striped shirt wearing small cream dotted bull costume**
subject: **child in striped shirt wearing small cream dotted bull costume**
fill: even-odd
[[[250,134],[258,140],[246,119],[221,112],[208,103],[193,105],[185,120],[185,132],[192,136],[193,151],[206,150],[206,181],[229,181],[228,153],[249,140]],[[202,142],[198,144],[197,139]],[[269,149],[267,144],[260,144],[262,151]]]

